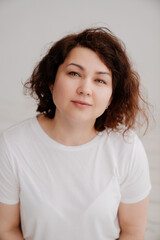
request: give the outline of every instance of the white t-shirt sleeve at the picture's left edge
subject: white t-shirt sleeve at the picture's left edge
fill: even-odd
[[[0,135],[0,202],[16,204],[19,202],[19,184],[12,162],[12,154]]]

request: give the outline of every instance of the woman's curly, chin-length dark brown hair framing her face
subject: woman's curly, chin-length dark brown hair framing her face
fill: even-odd
[[[139,75],[132,69],[124,43],[108,28],[90,28],[78,34],[67,35],[49,49],[24,85],[25,90],[37,99],[37,111],[48,118],[54,117],[56,106],[49,87],[54,84],[59,66],[77,46],[96,52],[112,72],[112,102],[96,119],[95,129],[117,130],[120,126],[124,126],[125,131],[133,129],[137,123],[137,115],[143,116],[148,127],[148,117],[142,107],[147,106],[147,102],[140,92]]]

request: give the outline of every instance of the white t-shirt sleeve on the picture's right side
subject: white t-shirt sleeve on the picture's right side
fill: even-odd
[[[136,136],[131,157],[124,166],[127,174],[121,184],[121,202],[136,203],[143,200],[151,190],[149,164],[140,139]]]

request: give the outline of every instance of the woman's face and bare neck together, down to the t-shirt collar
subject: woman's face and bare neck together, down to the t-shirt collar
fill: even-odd
[[[92,50],[76,47],[59,67],[50,89],[56,113],[54,119],[48,121],[49,129],[42,123],[45,131],[65,145],[80,145],[91,140],[97,134],[96,118],[111,101],[112,74],[108,67]]]

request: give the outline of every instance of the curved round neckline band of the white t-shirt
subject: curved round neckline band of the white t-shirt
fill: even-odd
[[[59,149],[63,149],[63,150],[82,150],[82,149],[86,149],[88,147],[91,147],[95,144],[98,143],[98,141],[100,140],[101,136],[106,134],[106,131],[102,131],[99,132],[92,140],[90,140],[87,143],[78,145],[78,146],[68,146],[68,145],[64,145],[61,144],[57,141],[55,141],[54,139],[52,139],[50,136],[48,136],[48,134],[42,129],[42,127],[40,126],[37,116],[35,116],[34,118],[32,118],[32,124],[33,124],[33,128],[34,131],[36,132],[36,134],[39,135],[40,139],[42,139],[42,141],[44,141],[47,145],[50,144],[52,147],[56,147]]]

